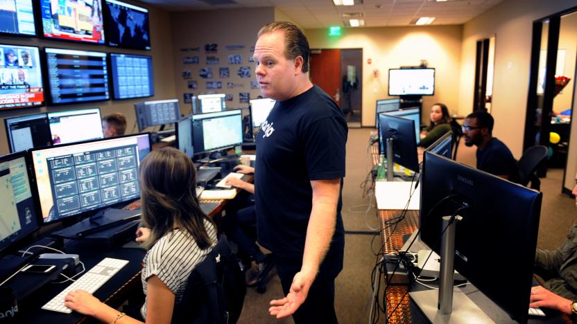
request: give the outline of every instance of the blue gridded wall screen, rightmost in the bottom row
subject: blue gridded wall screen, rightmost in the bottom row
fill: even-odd
[[[113,99],[154,96],[151,56],[110,53],[110,70]]]

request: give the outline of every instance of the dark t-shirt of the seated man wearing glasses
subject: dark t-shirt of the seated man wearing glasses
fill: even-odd
[[[509,181],[519,182],[519,166],[503,142],[493,137],[483,150],[477,150],[477,169],[495,175],[508,175]]]

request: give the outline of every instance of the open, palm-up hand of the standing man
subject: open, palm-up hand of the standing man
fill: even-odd
[[[282,299],[270,300],[270,308],[268,309],[270,315],[283,318],[294,314],[307,299],[313,280],[314,278],[312,280],[307,278],[302,271],[296,273],[288,295]]]

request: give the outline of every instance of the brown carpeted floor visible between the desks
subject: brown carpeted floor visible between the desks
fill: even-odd
[[[372,240],[374,235],[370,232],[377,231],[378,226],[376,210],[374,201],[363,197],[361,186],[370,170],[367,143],[372,130],[350,129],[347,141],[347,175],[343,187],[342,214],[345,231],[355,233],[345,237],[345,266],[336,280],[335,307],[339,323],[368,323],[370,275],[376,261],[372,251],[379,249],[379,237]],[[465,147],[461,142],[457,160],[474,165],[474,148]],[[569,226],[577,220],[574,199],[561,194],[562,177],[562,170],[554,169],[549,170],[546,179],[542,179],[544,198],[537,243],[542,249],[554,249],[561,244]],[[254,288],[248,288],[239,323],[293,323],[292,318],[277,321],[268,315],[268,302],[282,297],[276,276],[271,278],[265,294],[258,294]]]

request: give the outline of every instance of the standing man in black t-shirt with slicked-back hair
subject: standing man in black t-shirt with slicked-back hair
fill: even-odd
[[[270,314],[292,314],[295,323],[336,323],[347,123],[338,105],[309,80],[309,54],[307,38],[291,23],[259,30],[255,74],[263,95],[277,102],[256,136],[258,240],[277,256],[286,294],[270,302]]]

